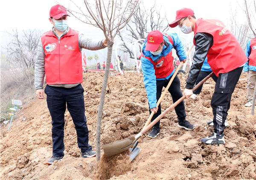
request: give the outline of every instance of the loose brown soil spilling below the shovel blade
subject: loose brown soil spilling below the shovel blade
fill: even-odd
[[[99,160],[97,171],[94,172],[95,179],[106,180],[113,176],[118,177],[119,175],[131,171],[131,159],[129,155],[129,149],[108,158],[106,158],[103,153]]]

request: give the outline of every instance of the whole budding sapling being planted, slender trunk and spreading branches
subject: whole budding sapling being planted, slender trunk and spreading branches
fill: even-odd
[[[73,2],[71,0],[71,2]],[[132,15],[135,12],[137,6],[137,0],[84,0],[89,15],[84,14],[84,11],[81,7],[76,5],[78,10],[68,9],[67,10],[73,14],[77,19],[83,23],[93,25],[97,28],[100,28],[108,43],[108,56],[107,63],[104,73],[104,78],[102,82],[102,92],[99,100],[99,110],[97,115],[97,127],[96,127],[96,160],[100,160],[100,136],[101,136],[101,122],[102,122],[102,110],[105,101],[106,87],[108,83],[108,75],[110,62],[112,57],[113,49],[113,39],[116,37],[116,34],[127,25],[129,20],[131,20]]]

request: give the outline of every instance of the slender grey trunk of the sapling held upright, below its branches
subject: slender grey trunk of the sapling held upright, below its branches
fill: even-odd
[[[102,92],[100,95],[99,100],[99,110],[97,115],[97,127],[96,127],[96,161],[99,162],[100,160],[100,135],[101,135],[101,122],[102,122],[102,111],[103,111],[103,105],[105,101],[105,94],[108,84],[108,74],[109,74],[109,68],[111,63],[111,56],[112,56],[112,49],[113,49],[113,41],[111,40],[108,42],[108,57],[107,57],[107,63],[104,73],[104,78],[102,82]]]

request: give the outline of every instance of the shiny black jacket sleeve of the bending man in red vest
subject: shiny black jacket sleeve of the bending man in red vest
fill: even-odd
[[[195,54],[193,56],[193,64],[189,70],[189,76],[186,80],[186,89],[192,89],[195,81],[207,56],[209,48],[213,45],[213,37],[208,33],[195,34]]]

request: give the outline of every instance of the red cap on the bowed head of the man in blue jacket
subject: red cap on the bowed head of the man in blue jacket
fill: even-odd
[[[154,30],[148,33],[145,51],[156,51],[163,42],[163,34],[161,31]]]

